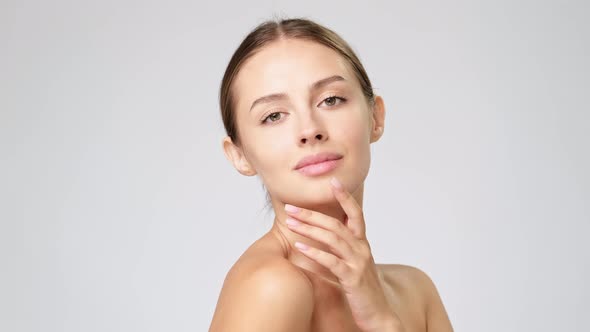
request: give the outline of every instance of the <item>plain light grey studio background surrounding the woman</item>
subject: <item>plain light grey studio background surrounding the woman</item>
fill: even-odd
[[[456,331],[590,330],[587,3],[128,0],[1,1],[0,330],[207,330],[272,220],[217,97],[273,15],[334,29],[385,99],[378,262]]]

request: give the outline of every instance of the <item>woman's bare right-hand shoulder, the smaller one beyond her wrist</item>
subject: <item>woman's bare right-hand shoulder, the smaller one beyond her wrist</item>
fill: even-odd
[[[400,294],[419,299],[427,331],[453,331],[434,281],[423,270],[404,264],[379,264],[386,282]]]

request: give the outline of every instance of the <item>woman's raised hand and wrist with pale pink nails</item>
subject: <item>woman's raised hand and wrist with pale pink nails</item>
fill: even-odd
[[[329,269],[340,282],[353,318],[363,331],[402,331],[398,316],[390,308],[365,236],[363,212],[340,182],[332,178],[332,192],[348,222],[322,213],[285,205],[289,228],[327,245],[331,252],[296,242],[310,259]]]

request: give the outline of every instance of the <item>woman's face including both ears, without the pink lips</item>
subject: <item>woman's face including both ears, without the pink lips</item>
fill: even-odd
[[[299,39],[274,42],[243,64],[233,89],[242,144],[226,137],[226,154],[242,174],[258,174],[273,201],[330,203],[332,176],[351,192],[362,190],[384,109],[380,97],[370,109],[336,51]],[[274,97],[260,99],[268,95]],[[332,170],[306,175],[295,169],[302,158],[324,152],[342,156]]]

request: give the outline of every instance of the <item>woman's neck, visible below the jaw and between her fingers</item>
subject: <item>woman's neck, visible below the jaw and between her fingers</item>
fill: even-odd
[[[361,208],[363,205],[363,187],[364,184],[361,184],[355,192],[351,193]],[[275,218],[269,233],[273,234],[279,239],[283,247],[283,254],[285,257],[300,268],[310,271],[323,279],[327,279],[328,281],[338,283],[338,278],[329,269],[302,254],[299,249],[295,247],[295,242],[302,242],[311,247],[331,253],[331,250],[328,248],[328,246],[319,241],[299,235],[287,227],[285,222],[287,219],[287,214],[285,213],[285,204],[289,202],[278,201],[274,198],[271,198],[271,202],[275,212]],[[296,206],[324,214],[331,218],[335,218],[342,223],[345,223],[347,220],[346,214],[344,213],[344,210],[336,198],[334,198],[333,201],[322,204]]]

